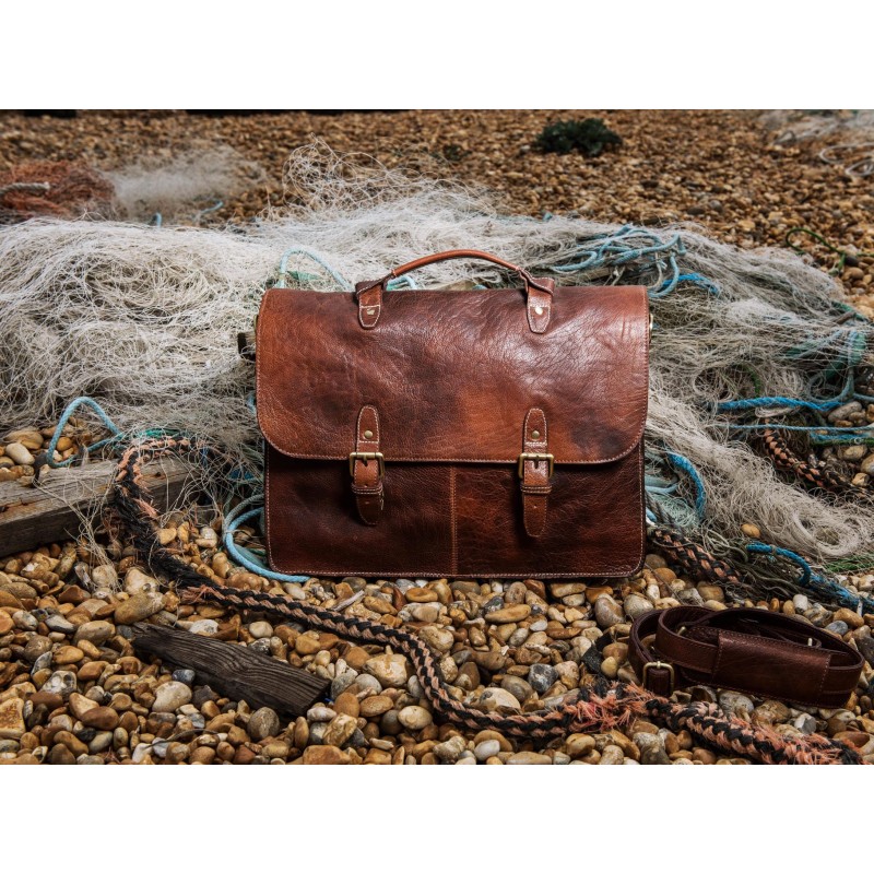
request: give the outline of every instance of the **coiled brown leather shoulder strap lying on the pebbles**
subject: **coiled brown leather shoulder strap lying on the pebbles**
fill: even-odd
[[[704,684],[823,708],[846,704],[864,664],[828,631],[746,607],[645,613],[631,625],[628,658],[657,695]]]

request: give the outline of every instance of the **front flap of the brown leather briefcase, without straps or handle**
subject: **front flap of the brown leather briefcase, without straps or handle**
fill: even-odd
[[[399,291],[373,330],[352,294],[271,288],[257,330],[258,422],[294,458],[346,459],[365,405],[386,462],[516,462],[532,408],[556,464],[614,461],[647,417],[641,286],[558,286],[530,330],[519,288]]]

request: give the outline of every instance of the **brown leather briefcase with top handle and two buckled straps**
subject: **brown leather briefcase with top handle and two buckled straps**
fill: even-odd
[[[449,258],[521,279],[386,291]],[[643,560],[649,309],[439,252],[350,294],[270,288],[258,318],[272,568],[623,577]]]

